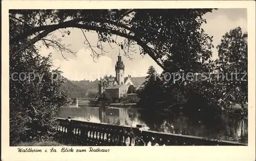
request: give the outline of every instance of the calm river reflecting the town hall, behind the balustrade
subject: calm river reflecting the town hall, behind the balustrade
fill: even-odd
[[[147,130],[202,136],[213,139],[248,142],[248,122],[225,114],[217,117],[184,116],[184,114],[162,115],[135,108],[61,107],[59,118],[136,127]]]

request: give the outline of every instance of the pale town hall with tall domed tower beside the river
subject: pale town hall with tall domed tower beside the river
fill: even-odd
[[[117,100],[124,97],[130,85],[134,85],[131,75],[124,77],[124,64],[120,53],[115,65],[116,77],[104,76],[100,78],[98,87],[98,94],[101,96],[103,93],[109,100]]]

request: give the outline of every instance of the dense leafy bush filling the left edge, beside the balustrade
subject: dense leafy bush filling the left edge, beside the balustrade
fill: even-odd
[[[10,37],[22,32],[13,21],[10,29]],[[58,107],[66,102],[59,89],[61,72],[51,71],[51,54],[41,57],[33,45],[17,55],[13,52],[10,45],[10,145],[49,139],[57,126]]]

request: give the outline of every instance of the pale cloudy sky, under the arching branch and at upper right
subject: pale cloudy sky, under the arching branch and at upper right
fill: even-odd
[[[218,57],[216,46],[221,42],[221,37],[231,29],[241,27],[243,32],[247,32],[247,11],[246,9],[218,9],[211,13],[206,13],[203,16],[207,24],[203,24],[202,28],[209,35],[214,36],[212,38],[215,48],[212,49],[212,59]],[[64,59],[61,53],[42,47],[39,52],[41,55],[46,56],[52,53],[52,60],[54,68],[60,67],[60,71],[63,72],[63,76],[70,80],[92,80],[100,79],[104,75],[115,76],[115,64],[117,56],[119,54],[119,48],[117,45],[104,45],[104,51],[108,52],[104,56],[94,58],[91,56],[91,51],[88,49],[88,45],[84,44],[84,36],[80,29],[69,28],[71,34],[67,37],[61,37],[59,31],[55,31],[55,35],[62,39],[62,43],[70,44],[70,49],[76,52],[76,56],[70,53],[63,53],[68,58]],[[95,45],[98,40],[98,36],[95,32],[86,33],[87,39],[91,45]],[[119,40],[122,40],[120,37]],[[40,43],[40,42],[39,42]],[[97,51],[100,53],[100,51]],[[132,77],[146,76],[148,67],[153,65],[158,73],[162,72],[162,68],[148,55],[141,56],[138,53],[133,53],[131,58],[122,56],[123,63],[125,65],[124,75],[131,75]]]

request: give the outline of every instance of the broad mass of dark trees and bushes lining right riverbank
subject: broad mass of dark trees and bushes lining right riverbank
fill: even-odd
[[[216,60],[209,59],[208,51],[202,55],[189,53],[189,49],[176,52],[165,60],[168,68],[159,76],[150,66],[144,90],[138,94],[139,105],[151,110],[220,110],[247,116],[247,33],[240,27],[230,30],[217,49]],[[242,109],[232,111],[228,109],[231,104],[240,104]]]

